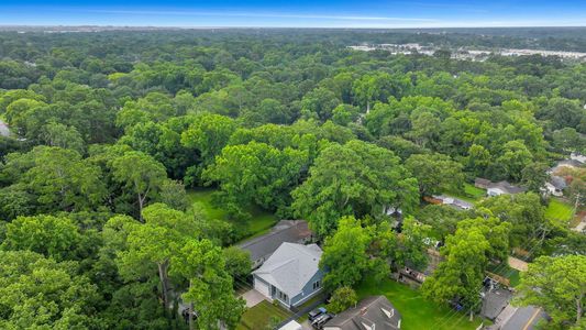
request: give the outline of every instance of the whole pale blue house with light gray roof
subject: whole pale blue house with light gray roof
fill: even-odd
[[[287,308],[301,305],[322,289],[321,254],[316,244],[280,244],[261,268],[252,273],[254,289]]]

